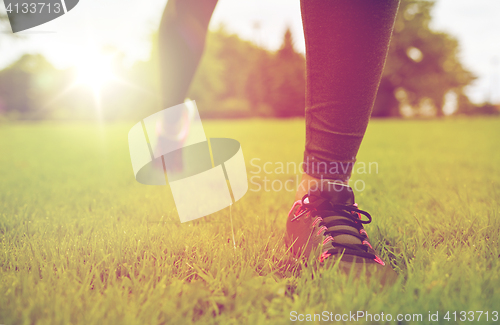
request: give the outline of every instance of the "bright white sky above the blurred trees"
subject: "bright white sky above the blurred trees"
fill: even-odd
[[[145,5],[147,3],[147,5]],[[113,46],[126,62],[147,60],[151,35],[158,28],[166,0],[80,0],[66,15],[23,31],[20,39],[3,37],[0,30],[0,67],[23,53],[42,53],[56,67],[78,65],[92,49]],[[5,7],[0,4],[0,10]],[[480,103],[500,103],[500,0],[438,0],[432,27],[455,36],[462,62],[478,79],[467,89]],[[297,50],[304,52],[299,0],[219,0],[210,28],[224,24],[269,49],[277,49],[287,27]]]

